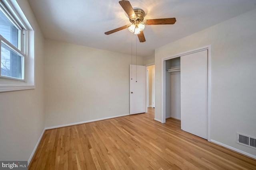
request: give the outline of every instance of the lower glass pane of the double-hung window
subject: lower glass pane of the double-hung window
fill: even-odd
[[[23,79],[24,57],[1,43],[1,76]]]

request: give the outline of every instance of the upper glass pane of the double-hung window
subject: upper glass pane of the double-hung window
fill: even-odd
[[[0,10],[0,34],[18,48],[19,29]]]

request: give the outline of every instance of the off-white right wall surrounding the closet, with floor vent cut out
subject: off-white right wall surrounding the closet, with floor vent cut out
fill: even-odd
[[[256,156],[236,143],[236,132],[256,137],[256,10],[155,50],[156,109],[161,119],[161,59],[212,45],[212,137]]]

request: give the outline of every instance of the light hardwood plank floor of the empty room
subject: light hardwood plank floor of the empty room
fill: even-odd
[[[180,130],[180,121],[154,121],[154,109],[46,130],[29,170],[253,169],[256,160]]]

